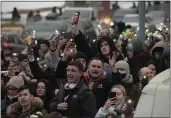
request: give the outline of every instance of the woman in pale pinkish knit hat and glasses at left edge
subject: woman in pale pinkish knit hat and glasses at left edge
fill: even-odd
[[[7,95],[4,100],[1,101],[1,112],[3,114],[6,114],[7,107],[18,101],[17,95],[18,95],[18,88],[24,85],[24,80],[21,76],[14,76],[12,77],[7,85]]]

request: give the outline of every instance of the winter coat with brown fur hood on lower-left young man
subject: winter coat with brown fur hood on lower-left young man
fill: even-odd
[[[43,109],[42,100],[38,97],[34,97],[31,109],[26,112],[22,112],[22,106],[19,104],[19,102],[15,102],[7,108],[7,115],[14,115],[17,118],[30,118],[31,115],[37,114],[37,112],[42,113],[42,117],[39,118],[44,118],[46,115],[48,115],[47,111]]]

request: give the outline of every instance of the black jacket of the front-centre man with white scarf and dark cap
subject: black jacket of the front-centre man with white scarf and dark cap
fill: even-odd
[[[68,103],[67,111],[57,110],[57,105],[63,103],[64,98],[68,95],[69,97],[66,100],[66,103]],[[52,100],[50,108],[51,112],[61,112],[68,118],[94,118],[97,112],[95,96],[84,84],[83,80],[72,90],[61,88],[57,96]]]

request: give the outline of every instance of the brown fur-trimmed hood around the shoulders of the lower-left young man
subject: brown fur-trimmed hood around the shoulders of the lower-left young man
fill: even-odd
[[[32,108],[33,107],[42,108],[43,107],[43,101],[39,97],[34,97],[32,100]],[[19,104],[19,102],[15,102],[15,103],[11,104],[10,106],[8,106],[7,115],[19,113],[19,112],[21,112],[20,111],[21,109],[22,109],[22,106]]]

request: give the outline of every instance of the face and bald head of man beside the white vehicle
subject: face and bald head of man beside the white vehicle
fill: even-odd
[[[142,79],[143,76],[147,76],[149,78],[149,81],[154,77],[152,70],[148,67],[141,69],[140,80]]]

